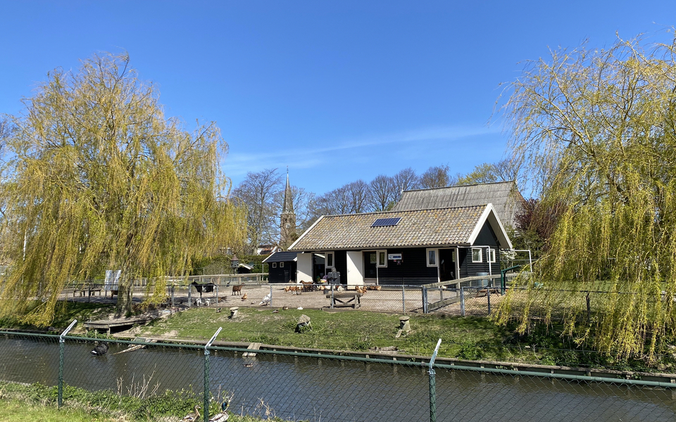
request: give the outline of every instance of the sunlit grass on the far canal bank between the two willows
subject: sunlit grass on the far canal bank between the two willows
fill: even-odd
[[[315,309],[240,309],[236,319],[213,309],[189,309],[169,319],[155,321],[142,335],[170,335],[176,338],[208,339],[219,327],[218,340],[257,342],[269,345],[317,349],[366,351],[373,347],[396,346],[407,354],[432,354],[442,338],[441,356],[454,356],[461,340],[475,343],[501,342],[508,333],[481,318],[439,318],[411,316],[413,331],[395,338],[399,315],[375,312],[326,312]],[[301,314],[311,319],[311,330],[295,333]]]

